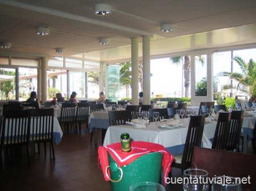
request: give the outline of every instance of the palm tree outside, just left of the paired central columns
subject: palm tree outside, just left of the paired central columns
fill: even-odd
[[[119,83],[126,87],[126,97],[129,97],[129,86],[131,86],[131,62],[120,63]]]

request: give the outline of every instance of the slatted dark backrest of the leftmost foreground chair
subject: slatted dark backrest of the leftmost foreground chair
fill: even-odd
[[[3,111],[1,145],[20,145],[30,139],[31,109]]]

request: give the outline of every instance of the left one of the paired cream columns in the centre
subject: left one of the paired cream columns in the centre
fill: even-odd
[[[131,39],[131,103],[139,105],[139,43]]]

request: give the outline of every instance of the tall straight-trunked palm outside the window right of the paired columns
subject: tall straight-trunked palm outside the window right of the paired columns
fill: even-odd
[[[197,56],[199,58],[199,61],[204,65],[205,60],[203,56]],[[183,60],[184,59],[184,60]],[[189,56],[176,56],[176,57],[170,57],[170,61],[172,63],[175,63],[176,65],[180,65],[181,61],[183,62],[183,71],[184,71],[184,87],[185,87],[185,97],[189,96],[189,86],[190,86],[190,58]]]

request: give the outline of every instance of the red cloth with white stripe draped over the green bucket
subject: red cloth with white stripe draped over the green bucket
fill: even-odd
[[[112,145],[101,146],[98,148],[98,158],[100,160],[101,169],[106,181],[109,180],[106,176],[106,167],[109,165],[108,152],[119,165],[119,167],[130,164],[137,158],[150,152],[161,152],[163,154],[162,167],[164,172],[164,180],[166,180],[168,173],[171,171],[171,164],[174,160],[174,157],[170,154],[170,152],[166,150],[166,148],[156,143],[132,141],[130,152],[123,152],[121,150],[121,143],[113,143]]]

